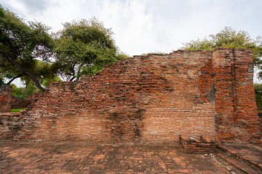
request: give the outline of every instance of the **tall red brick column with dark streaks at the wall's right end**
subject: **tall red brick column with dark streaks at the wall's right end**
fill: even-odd
[[[252,61],[248,49],[219,48],[213,52],[216,140],[220,142],[260,142]]]

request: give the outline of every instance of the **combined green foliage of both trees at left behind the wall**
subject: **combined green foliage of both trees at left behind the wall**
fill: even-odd
[[[95,18],[65,23],[53,36],[49,29],[0,6],[0,85],[21,78],[26,87],[14,92],[18,98],[37,91],[33,86],[44,91],[49,83],[61,80],[58,73],[77,80],[127,57],[118,51],[112,31]]]

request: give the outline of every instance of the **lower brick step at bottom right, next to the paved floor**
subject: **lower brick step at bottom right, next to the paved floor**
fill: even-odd
[[[231,156],[223,153],[222,151],[217,153],[217,157],[219,159],[224,160],[225,162],[227,162],[228,164],[232,165],[234,168],[236,168],[237,170],[239,170],[239,171],[241,171],[245,174],[259,174],[259,173],[261,173],[256,168],[252,168],[252,166],[249,166],[248,164],[245,164],[244,162],[241,162],[240,160],[235,159],[234,157],[231,157]]]

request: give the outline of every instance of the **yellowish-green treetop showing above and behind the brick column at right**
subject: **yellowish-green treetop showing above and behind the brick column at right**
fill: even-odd
[[[262,56],[262,38],[251,39],[250,34],[245,31],[236,31],[225,27],[217,34],[210,34],[204,39],[197,39],[184,44],[185,50],[214,50],[216,47],[228,48],[250,48],[254,53],[254,65],[262,69],[262,62],[259,59]],[[259,73],[262,78],[262,72]]]

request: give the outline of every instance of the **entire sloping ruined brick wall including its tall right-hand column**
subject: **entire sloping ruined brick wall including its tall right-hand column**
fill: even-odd
[[[247,72],[248,67],[242,67],[243,72],[235,68],[235,74],[228,77],[228,69],[221,67],[219,58],[223,59],[222,62],[227,60],[225,53],[229,51],[180,50],[170,54],[134,56],[110,65],[91,78],[74,83],[53,83],[21,113],[23,124],[16,139],[177,142],[179,135],[204,135],[214,140],[216,111],[217,140],[224,141],[228,135],[223,129],[230,129],[231,124],[223,123],[223,109],[228,111],[227,102],[234,97],[228,96],[227,92],[231,95],[234,90],[223,84],[234,81],[232,76],[239,76],[239,80],[235,81],[240,85],[234,87],[239,90],[238,94],[244,89],[251,97],[246,100],[241,96],[238,99],[241,105],[234,103],[235,115],[232,117],[236,118],[236,113],[243,120],[246,120],[246,114],[253,114],[248,116],[250,119],[257,117],[256,111],[252,110],[255,105],[250,107],[254,103],[254,89],[250,85],[241,85],[247,82],[252,85],[252,81],[247,79],[252,72]],[[242,59],[248,58],[245,60],[248,65],[252,62],[249,51],[234,52],[249,55]],[[239,58],[240,61],[242,59]],[[246,66],[242,64],[239,65]],[[225,76],[219,74],[221,72],[226,72]],[[224,95],[225,99],[220,95]],[[230,111],[228,114],[233,114]],[[259,135],[256,121],[254,124],[248,121],[254,127],[244,129],[245,135],[234,132],[230,140],[257,140],[251,138],[251,131]],[[234,123],[237,127],[238,123]],[[8,128],[8,124],[2,127]],[[12,140],[12,133],[2,131],[2,135]]]

